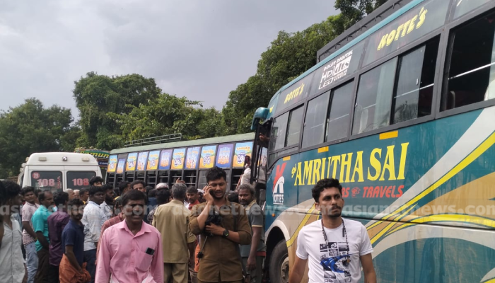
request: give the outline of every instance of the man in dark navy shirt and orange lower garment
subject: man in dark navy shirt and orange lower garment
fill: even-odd
[[[62,232],[62,261],[60,262],[60,283],[88,282],[89,273],[84,269],[84,203],[74,199],[69,202],[68,212],[71,216],[69,223]]]

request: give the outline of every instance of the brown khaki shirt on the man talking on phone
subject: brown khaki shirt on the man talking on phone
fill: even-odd
[[[191,231],[194,235],[201,235],[199,244],[203,248],[204,254],[203,258],[199,260],[198,279],[202,282],[219,282],[219,278],[221,282],[242,280],[243,266],[240,262],[239,244],[249,245],[252,236],[245,209],[240,204],[231,203],[228,200],[221,209],[214,208],[222,216],[222,227],[239,233],[240,243],[234,243],[223,236],[208,236],[206,238],[207,234],[199,230],[197,217],[205,206],[206,203],[197,204],[192,207],[191,212]],[[235,229],[234,217],[237,219]]]

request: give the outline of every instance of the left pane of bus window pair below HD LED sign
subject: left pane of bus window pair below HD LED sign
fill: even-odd
[[[304,120],[303,146],[301,147],[314,146],[323,142],[328,98],[330,98],[330,91],[309,101]]]

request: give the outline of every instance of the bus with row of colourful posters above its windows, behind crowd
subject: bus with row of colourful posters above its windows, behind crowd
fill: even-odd
[[[206,171],[225,169],[230,190],[235,190],[244,172],[244,158],[252,155],[254,133],[226,137],[129,146],[110,151],[106,182],[117,186],[122,180],[144,180],[173,185],[178,178],[187,186],[202,189]]]

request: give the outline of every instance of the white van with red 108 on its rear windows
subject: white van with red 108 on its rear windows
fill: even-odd
[[[81,190],[89,180],[100,176],[98,161],[91,154],[43,152],[31,154],[22,164],[18,184],[40,190]]]

